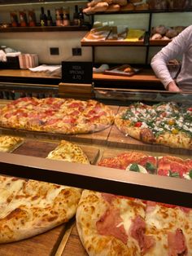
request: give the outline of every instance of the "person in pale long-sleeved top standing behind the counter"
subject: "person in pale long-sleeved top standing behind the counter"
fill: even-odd
[[[167,64],[178,56],[182,57],[181,71],[174,81],[168,72]],[[151,67],[166,90],[192,91],[192,25],[179,33],[152,58]]]

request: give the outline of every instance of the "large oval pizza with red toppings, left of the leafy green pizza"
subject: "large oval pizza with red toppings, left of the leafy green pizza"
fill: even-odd
[[[106,129],[114,121],[111,108],[96,100],[20,98],[0,111],[0,126],[65,135]]]

